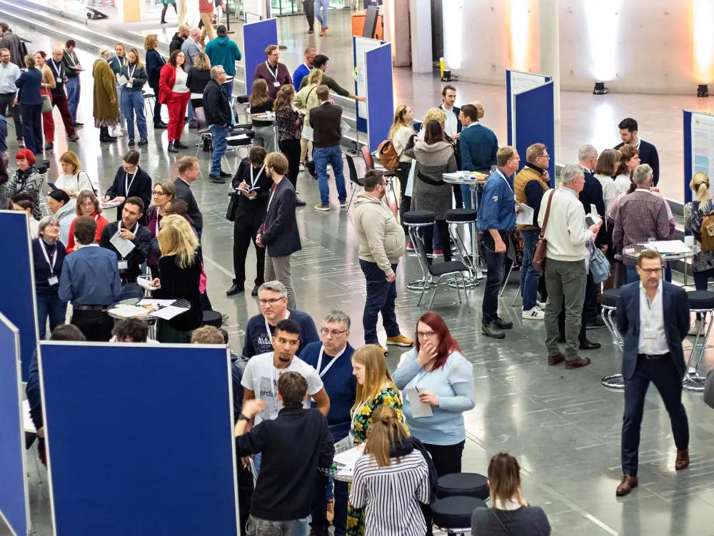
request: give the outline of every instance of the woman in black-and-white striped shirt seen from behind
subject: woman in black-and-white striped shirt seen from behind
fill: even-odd
[[[355,464],[350,504],[365,511],[365,536],[423,536],[429,467],[393,408],[374,412],[364,454]]]

